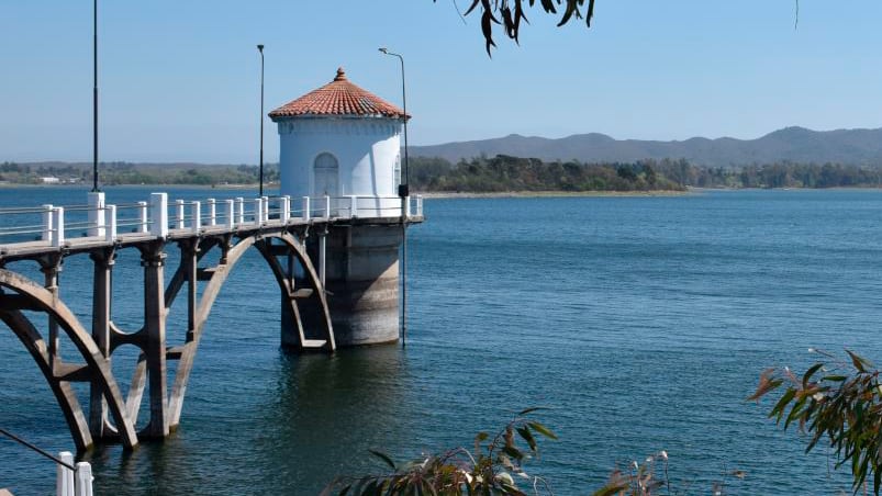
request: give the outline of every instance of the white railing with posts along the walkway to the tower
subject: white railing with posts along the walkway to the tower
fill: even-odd
[[[65,219],[66,213],[72,213]],[[205,229],[254,228],[288,223],[350,218],[422,217],[423,198],[399,196],[261,196],[217,201],[169,202],[167,193],[152,193],[149,201],[108,204],[103,192],[88,193],[86,205],[0,208],[0,248],[37,243],[64,247],[75,237],[112,244],[125,235],[166,238],[171,232],[199,234]],[[85,219],[83,219],[85,218]],[[5,224],[11,219],[11,225]]]

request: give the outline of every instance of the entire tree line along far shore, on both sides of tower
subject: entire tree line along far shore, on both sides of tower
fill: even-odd
[[[256,184],[258,167],[101,162],[102,184]],[[0,164],[0,181],[40,184],[43,178],[89,183],[91,165]],[[264,180],[279,181],[279,166],[265,166]],[[739,168],[704,167],[685,159],[633,162],[543,161],[509,155],[451,164],[443,158],[410,161],[412,189],[426,192],[683,191],[686,188],[882,188],[882,167],[780,161]]]

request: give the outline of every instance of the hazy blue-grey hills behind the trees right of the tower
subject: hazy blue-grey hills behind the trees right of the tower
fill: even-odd
[[[578,134],[560,139],[512,134],[476,142],[413,146],[411,154],[442,157],[450,161],[498,154],[535,157],[543,160],[585,162],[634,161],[646,158],[685,158],[706,167],[796,162],[839,162],[858,166],[882,165],[882,128],[812,131],[785,127],[757,139],[694,137],[684,142],[614,139],[599,133]]]

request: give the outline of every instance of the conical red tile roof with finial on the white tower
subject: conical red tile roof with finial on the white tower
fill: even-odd
[[[301,115],[362,115],[400,119],[404,112],[349,82],[346,72],[340,67],[333,81],[269,113],[269,117],[273,121],[280,117]]]

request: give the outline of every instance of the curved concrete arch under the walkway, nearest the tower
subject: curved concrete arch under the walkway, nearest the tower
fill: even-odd
[[[196,315],[193,316],[193,329],[191,329],[190,334],[188,335],[187,342],[181,349],[177,373],[175,375],[175,383],[171,387],[168,410],[168,422],[170,428],[175,428],[180,424],[183,398],[187,393],[190,372],[196,360],[197,349],[199,347],[199,341],[202,338],[202,330],[204,329],[205,322],[208,320],[211,308],[214,305],[214,301],[220,294],[221,288],[223,288],[224,282],[226,282],[231,271],[242,259],[242,256],[245,255],[249,248],[256,246],[257,249],[260,250],[261,255],[264,255],[264,259],[269,263],[270,269],[272,270],[272,273],[279,284],[279,289],[282,291],[282,294],[290,296],[293,292],[293,289],[289,286],[284,279],[284,273],[281,270],[281,267],[267,251],[266,243],[269,239],[281,240],[288,252],[293,255],[303,266],[304,272],[306,273],[306,280],[313,290],[312,294],[314,295],[316,303],[321,306],[325,316],[325,331],[328,337],[325,349],[327,351],[334,351],[336,348],[334,342],[334,330],[331,324],[331,313],[328,309],[327,300],[325,298],[324,289],[322,288],[315,268],[313,267],[312,261],[310,260],[302,245],[289,233],[267,235],[255,234],[242,238],[235,244],[235,246],[226,251],[225,256],[222,258],[222,263],[219,263],[211,270],[211,278],[202,291],[202,297],[199,300],[199,304],[196,308]],[[211,245],[209,249],[213,248],[214,246],[216,245]]]

